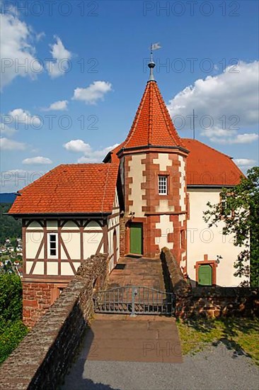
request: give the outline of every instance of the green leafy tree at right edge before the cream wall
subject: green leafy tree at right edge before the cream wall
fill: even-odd
[[[259,286],[259,167],[248,169],[247,177],[231,189],[223,188],[219,204],[207,203],[204,220],[217,226],[224,221],[223,234],[234,236],[234,245],[244,249],[234,267],[235,276],[249,277],[251,286]],[[250,260],[250,267],[249,267]]]

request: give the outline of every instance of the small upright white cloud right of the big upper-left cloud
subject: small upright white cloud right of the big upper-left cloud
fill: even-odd
[[[72,57],[71,52],[64,48],[62,40],[57,36],[54,36],[54,39],[56,40],[56,43],[50,45],[50,52],[53,60],[47,61],[46,63],[47,72],[52,79],[64,76],[64,74],[69,71],[71,67],[70,59]]]

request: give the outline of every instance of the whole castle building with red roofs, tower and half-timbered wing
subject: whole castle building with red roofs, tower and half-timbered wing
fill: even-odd
[[[168,247],[192,284],[237,286],[242,250],[208,228],[207,202],[220,202],[242,172],[231,157],[180,138],[150,76],[124,142],[100,164],[59,165],[21,191],[9,214],[23,221],[23,319],[49,307],[82,260],[108,254],[159,256]]]

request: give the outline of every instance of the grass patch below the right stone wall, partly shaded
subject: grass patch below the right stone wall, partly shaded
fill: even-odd
[[[184,355],[223,342],[259,365],[259,318],[178,320],[177,325]]]

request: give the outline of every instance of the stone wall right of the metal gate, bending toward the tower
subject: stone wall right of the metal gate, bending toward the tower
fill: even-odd
[[[192,289],[166,247],[162,249],[161,260],[163,272],[170,278],[169,289],[176,294],[177,317],[259,316],[259,289],[209,286]]]

